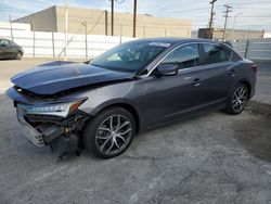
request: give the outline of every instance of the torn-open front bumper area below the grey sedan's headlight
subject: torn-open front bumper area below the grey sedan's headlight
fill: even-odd
[[[60,145],[63,146],[63,142],[70,145],[70,141],[75,142],[72,149],[76,149],[78,135],[85,122],[89,118],[88,114],[81,111],[77,111],[66,118],[48,115],[27,115],[20,107],[17,107],[16,112],[17,120],[23,127],[25,137],[36,146],[42,148],[50,144],[54,150],[60,149]]]

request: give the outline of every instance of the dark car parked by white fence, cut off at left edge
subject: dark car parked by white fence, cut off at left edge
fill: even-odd
[[[0,59],[21,60],[24,50],[21,46],[8,39],[0,39]]]

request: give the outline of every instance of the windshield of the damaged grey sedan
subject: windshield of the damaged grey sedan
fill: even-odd
[[[111,49],[90,62],[91,65],[120,72],[137,72],[146,66],[169,43],[131,41]]]

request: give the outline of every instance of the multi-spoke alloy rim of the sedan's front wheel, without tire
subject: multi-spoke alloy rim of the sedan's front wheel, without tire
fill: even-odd
[[[106,155],[122,151],[132,138],[132,125],[124,115],[111,115],[101,123],[95,133],[95,144]]]

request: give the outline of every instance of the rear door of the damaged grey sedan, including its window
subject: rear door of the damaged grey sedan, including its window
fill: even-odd
[[[236,64],[231,61],[232,51],[217,43],[201,43],[201,49],[204,55],[205,79],[203,103],[223,102],[236,77]]]

